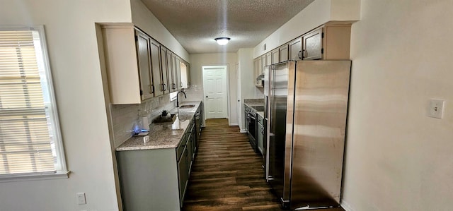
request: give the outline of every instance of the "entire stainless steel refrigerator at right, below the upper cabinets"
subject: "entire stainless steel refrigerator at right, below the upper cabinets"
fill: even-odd
[[[265,68],[265,178],[291,210],[340,205],[351,61]]]

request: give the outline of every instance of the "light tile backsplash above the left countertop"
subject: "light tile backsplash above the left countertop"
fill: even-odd
[[[147,116],[149,123],[161,114],[163,110],[175,108],[169,95],[154,97],[142,104],[110,104],[113,122],[113,139],[118,147],[132,135],[134,123],[142,124],[142,116]]]

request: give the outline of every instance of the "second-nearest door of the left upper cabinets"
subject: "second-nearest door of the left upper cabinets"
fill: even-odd
[[[160,44],[151,40],[151,71],[153,76],[154,97],[164,95],[164,83],[162,82]]]

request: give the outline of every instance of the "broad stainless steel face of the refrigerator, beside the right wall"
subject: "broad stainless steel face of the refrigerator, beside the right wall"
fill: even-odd
[[[292,209],[339,205],[350,64],[297,62]]]

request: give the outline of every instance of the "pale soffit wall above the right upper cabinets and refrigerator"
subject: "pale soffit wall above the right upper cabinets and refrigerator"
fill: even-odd
[[[253,58],[270,52],[328,21],[358,20],[360,0],[316,0],[253,49]],[[263,45],[266,44],[266,50]]]

